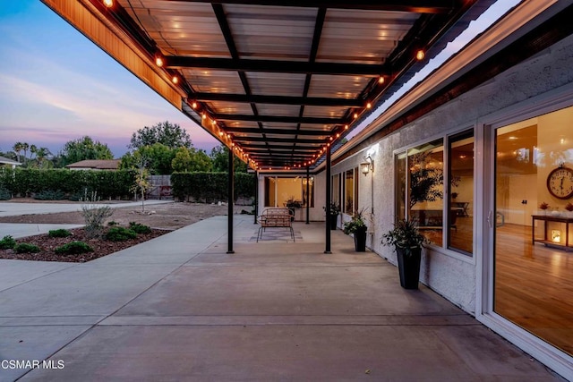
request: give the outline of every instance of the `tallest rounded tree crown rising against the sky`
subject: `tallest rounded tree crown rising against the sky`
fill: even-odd
[[[141,149],[144,146],[152,146],[161,143],[169,149],[184,147],[192,149],[191,137],[177,123],[160,122],[151,127],[145,126],[143,129],[133,132],[129,149]]]

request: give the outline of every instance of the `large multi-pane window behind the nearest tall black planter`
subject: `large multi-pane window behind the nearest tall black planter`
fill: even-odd
[[[466,255],[474,248],[474,142],[468,130],[395,156],[398,219],[414,220],[432,244]]]

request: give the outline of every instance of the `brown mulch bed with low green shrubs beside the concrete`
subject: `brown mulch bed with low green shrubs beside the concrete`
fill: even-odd
[[[45,233],[16,239],[16,242],[18,243],[28,242],[30,244],[36,244],[40,248],[40,251],[38,253],[16,253],[14,250],[0,250],[0,259],[84,263],[86,261],[107,256],[118,250],[133,247],[133,245],[139,244],[140,242],[147,242],[148,240],[170,232],[166,230],[151,229],[150,233],[139,233],[135,239],[127,240],[125,242],[107,242],[104,239],[88,239],[83,228],[75,228],[69,231],[73,234],[68,237],[49,237],[47,233]],[[68,242],[86,242],[94,251],[81,253],[79,255],[56,254],[54,250]]]

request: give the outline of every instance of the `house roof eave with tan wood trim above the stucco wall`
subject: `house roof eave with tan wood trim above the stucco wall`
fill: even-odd
[[[332,157],[337,163],[368,149],[461,94],[573,34],[573,6],[557,0],[523,2],[409,90]],[[321,171],[324,167],[317,167]]]

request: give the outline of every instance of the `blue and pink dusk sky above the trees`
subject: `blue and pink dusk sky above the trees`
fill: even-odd
[[[115,157],[133,132],[178,123],[193,145],[218,146],[209,133],[38,0],[0,1],[0,151],[16,141],[53,154],[89,135]]]

